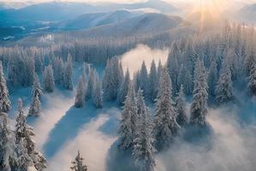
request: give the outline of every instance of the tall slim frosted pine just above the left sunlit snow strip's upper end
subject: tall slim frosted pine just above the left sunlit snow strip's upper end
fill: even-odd
[[[65,69],[64,69],[64,78],[63,78],[63,86],[67,90],[73,90],[73,67],[72,67],[72,57],[70,54],[68,54],[68,61],[65,63]]]

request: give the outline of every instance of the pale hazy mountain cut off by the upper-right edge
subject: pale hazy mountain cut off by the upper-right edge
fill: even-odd
[[[256,3],[248,4],[240,9],[236,17],[240,21],[256,23]]]

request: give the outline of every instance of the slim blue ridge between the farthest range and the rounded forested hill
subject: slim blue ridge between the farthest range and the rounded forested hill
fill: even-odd
[[[80,15],[72,20],[63,21],[58,24],[58,27],[66,29],[99,27],[115,22],[125,21],[136,15],[140,15],[140,13],[129,12],[128,10],[117,10],[110,13],[88,13]]]

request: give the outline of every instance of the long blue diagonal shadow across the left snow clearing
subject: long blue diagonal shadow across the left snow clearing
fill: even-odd
[[[112,113],[116,113],[115,108],[109,109],[104,107],[104,109],[95,109],[92,102],[87,102],[83,109],[76,109],[74,106],[72,106],[51,130],[47,142],[43,147],[45,156],[47,158],[54,156],[56,152],[62,148],[63,144],[65,144],[69,139],[74,139],[80,132],[80,129],[83,128],[86,123],[89,123],[92,118],[95,118],[101,114],[113,115]],[[111,124],[107,124],[106,126],[110,125]],[[113,129],[115,127],[116,126],[114,125]]]

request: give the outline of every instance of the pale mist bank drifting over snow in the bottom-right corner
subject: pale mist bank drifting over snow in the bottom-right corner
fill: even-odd
[[[158,155],[157,170],[255,170],[255,127],[242,127],[237,115],[230,108],[211,109],[207,117],[213,130],[210,147],[180,139],[170,150]]]

